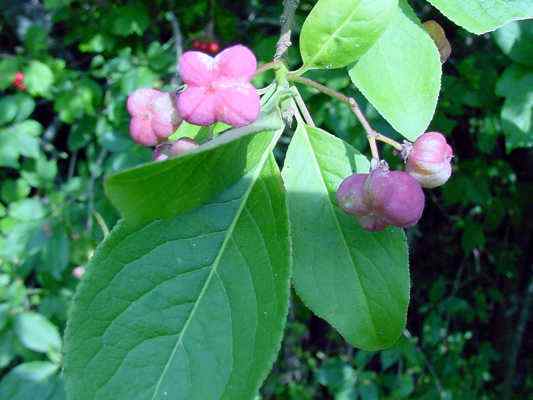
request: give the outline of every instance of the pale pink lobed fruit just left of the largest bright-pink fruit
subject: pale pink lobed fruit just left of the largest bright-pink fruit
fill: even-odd
[[[181,123],[176,99],[171,93],[156,89],[137,89],[128,96],[131,115],[130,135],[144,146],[155,146],[172,135]]]

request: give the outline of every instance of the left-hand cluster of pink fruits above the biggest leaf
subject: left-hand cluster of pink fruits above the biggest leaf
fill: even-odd
[[[168,142],[182,121],[209,126],[217,121],[239,127],[257,119],[260,100],[250,83],[257,69],[254,54],[241,45],[216,57],[198,51],[184,53],[179,73],[186,89],[179,93],[138,89],[128,97],[130,134],[143,146],[156,146],[154,159],[191,150],[198,144],[188,138]]]

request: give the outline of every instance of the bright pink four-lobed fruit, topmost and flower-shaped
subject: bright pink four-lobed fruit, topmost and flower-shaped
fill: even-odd
[[[254,122],[261,108],[250,83],[256,69],[254,54],[242,45],[216,57],[198,51],[184,53],[179,71],[187,89],[178,98],[180,115],[203,126],[216,121],[237,127]]]

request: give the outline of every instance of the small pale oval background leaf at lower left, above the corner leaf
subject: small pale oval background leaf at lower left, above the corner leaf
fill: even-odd
[[[15,333],[24,347],[47,353],[61,350],[61,337],[54,324],[41,314],[23,312],[15,317]]]

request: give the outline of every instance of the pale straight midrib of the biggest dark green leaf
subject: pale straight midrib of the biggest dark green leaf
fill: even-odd
[[[209,271],[207,279],[206,279],[204,285],[202,286],[202,290],[200,291],[200,293],[198,295],[198,299],[194,303],[194,306],[191,309],[191,312],[190,312],[189,316],[187,317],[187,320],[185,321],[185,324],[183,325],[183,328],[181,329],[181,332],[180,332],[180,334],[178,336],[178,340],[176,341],[176,345],[172,349],[172,352],[171,352],[171,354],[170,354],[170,356],[169,356],[169,358],[167,360],[167,363],[165,364],[165,368],[163,368],[163,372],[161,373],[161,376],[160,376],[160,378],[159,378],[159,380],[158,380],[158,382],[156,384],[156,387],[155,387],[155,390],[154,390],[154,394],[153,394],[151,400],[155,400],[156,399],[156,397],[157,397],[157,395],[159,393],[159,389],[161,387],[161,384],[163,382],[163,379],[166,376],[166,373],[167,373],[167,371],[168,371],[168,369],[169,369],[169,367],[170,367],[170,365],[172,363],[172,360],[174,359],[174,356],[176,355],[176,352],[178,351],[180,345],[182,345],[182,343],[183,343],[183,338],[185,336],[187,328],[189,327],[189,324],[191,323],[191,321],[192,321],[192,319],[193,319],[193,317],[194,317],[194,315],[196,313],[196,309],[198,308],[198,305],[202,301],[203,296],[205,295],[205,293],[207,291],[207,288],[209,287],[209,285],[211,283],[211,279],[213,278],[214,275],[217,275],[217,269],[218,269],[218,266],[220,264],[220,260],[222,258],[222,255],[225,253],[225,250],[226,250],[226,247],[227,247],[229,241],[231,240],[231,238],[233,236],[233,231],[235,229],[235,226],[237,225],[237,222],[239,221],[239,218],[240,218],[243,210],[246,207],[246,202],[248,201],[248,197],[250,196],[250,193],[252,192],[252,190],[253,190],[253,188],[255,186],[255,182],[257,182],[257,179],[258,179],[259,175],[261,174],[261,171],[263,170],[263,168],[265,166],[265,163],[268,160],[268,157],[270,156],[270,153],[271,153],[273,147],[276,145],[277,139],[279,138],[281,133],[282,133],[282,130],[279,130],[279,131],[277,131],[274,134],[272,142],[265,149],[265,152],[263,153],[263,156],[261,157],[259,163],[256,166],[256,169],[254,171],[254,174],[253,174],[251,182],[250,182],[250,186],[246,189],[246,192],[242,196],[242,202],[239,205],[239,208],[237,209],[237,212],[235,213],[235,217],[233,218],[233,221],[231,222],[230,226],[227,229],[227,233],[226,233],[226,237],[224,238],[224,242],[222,243],[222,246],[220,247],[219,253],[218,253],[215,261],[213,262],[213,268],[211,269],[211,271]]]

